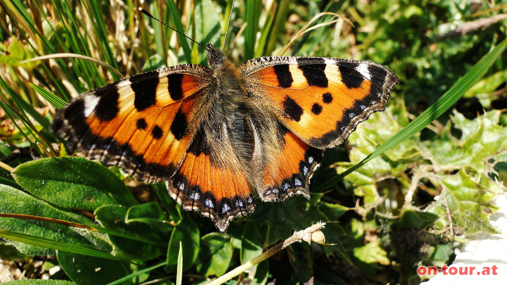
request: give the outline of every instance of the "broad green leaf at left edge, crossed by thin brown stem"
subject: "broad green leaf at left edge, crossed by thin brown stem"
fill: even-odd
[[[76,213],[66,212],[49,205],[21,190],[6,185],[0,185],[0,209],[6,213],[19,213],[25,215],[53,218],[63,221],[92,225],[90,220]],[[30,221],[13,218],[0,218],[0,229],[17,233],[24,233],[44,237],[51,240],[82,245],[95,248],[102,252],[111,252],[112,246],[108,244],[107,237],[101,233],[89,232],[83,229],[64,225]],[[12,242],[16,248],[28,255],[54,255],[55,251],[20,242]]]

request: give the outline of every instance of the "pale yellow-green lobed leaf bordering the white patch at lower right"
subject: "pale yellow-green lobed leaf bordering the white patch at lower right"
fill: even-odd
[[[502,193],[496,183],[484,176],[476,182],[463,170],[442,177],[441,183],[442,193],[436,198],[437,201],[426,209],[441,217],[436,223],[438,229],[448,230],[449,219],[452,219],[455,234],[496,232],[489,222],[491,213],[497,210],[490,201],[496,194]]]

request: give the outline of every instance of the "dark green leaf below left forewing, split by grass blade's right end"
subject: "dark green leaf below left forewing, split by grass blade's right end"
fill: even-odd
[[[135,205],[132,207],[139,207],[142,205]],[[132,210],[119,205],[104,205],[95,210],[95,219],[106,228],[111,228],[124,232],[139,233],[139,235],[146,237],[160,238],[161,236],[167,236],[165,232],[159,232],[151,224],[153,218],[135,216],[134,213],[144,213],[146,215],[152,215],[149,210]],[[130,218],[127,219],[127,215],[130,212]],[[158,214],[157,214],[158,215]],[[136,218],[136,219],[132,219]],[[154,259],[162,255],[162,249],[152,243],[132,240],[130,238],[108,235],[113,244],[115,250],[128,256],[138,258],[140,260]]]

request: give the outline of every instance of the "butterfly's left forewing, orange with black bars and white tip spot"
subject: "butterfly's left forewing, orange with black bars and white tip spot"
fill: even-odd
[[[194,109],[210,78],[208,67],[185,64],[123,79],[73,99],[51,128],[89,159],[141,181],[167,181],[197,129]]]

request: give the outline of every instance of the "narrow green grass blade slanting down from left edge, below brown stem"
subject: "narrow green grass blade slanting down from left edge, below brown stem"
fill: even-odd
[[[88,247],[75,245],[75,244],[64,243],[64,242],[60,242],[60,241],[56,241],[56,240],[50,240],[50,239],[43,238],[43,237],[27,235],[27,234],[22,234],[22,233],[15,233],[15,232],[6,231],[6,230],[0,230],[0,236],[10,239],[10,240],[23,242],[26,244],[51,248],[52,250],[64,251],[64,252],[76,253],[76,254],[82,254],[82,255],[89,255],[89,256],[94,256],[94,257],[100,257],[100,258],[106,258],[106,259],[112,259],[112,260],[117,260],[117,261],[133,263],[131,260],[123,259],[120,257],[116,257],[113,255],[107,254],[107,253],[103,253],[103,252],[94,250],[93,248],[88,248]]]

